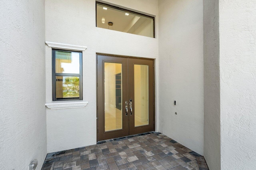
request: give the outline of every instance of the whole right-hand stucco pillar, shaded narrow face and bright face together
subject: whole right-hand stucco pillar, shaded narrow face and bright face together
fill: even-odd
[[[256,167],[256,0],[204,1],[204,157]]]

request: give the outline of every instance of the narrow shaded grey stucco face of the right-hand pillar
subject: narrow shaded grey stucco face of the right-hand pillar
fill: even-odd
[[[220,170],[220,41],[218,0],[204,0],[204,158]]]

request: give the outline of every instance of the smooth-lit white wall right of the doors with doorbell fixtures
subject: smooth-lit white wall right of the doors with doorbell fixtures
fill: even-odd
[[[203,155],[203,2],[159,0],[158,6],[159,129]]]

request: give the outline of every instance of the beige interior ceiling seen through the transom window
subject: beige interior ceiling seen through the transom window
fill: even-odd
[[[102,5],[97,5],[97,27],[112,29],[111,26],[108,27],[108,22],[112,22],[114,30],[128,32],[130,27],[136,23],[134,23],[134,19],[138,20],[139,18],[140,20],[146,20],[144,19],[145,17],[136,16],[108,6],[106,6],[108,9],[104,10],[103,7]],[[126,16],[125,13],[128,13],[129,16]],[[103,16],[105,17],[105,23],[102,23]]]

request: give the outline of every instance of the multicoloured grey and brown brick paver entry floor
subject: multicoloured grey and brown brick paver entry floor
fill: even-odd
[[[208,170],[204,157],[161,133],[49,153],[42,170]]]

